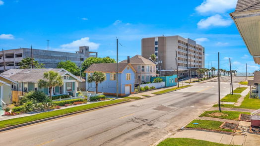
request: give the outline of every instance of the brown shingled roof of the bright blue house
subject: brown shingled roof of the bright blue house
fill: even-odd
[[[130,63],[118,63],[118,72],[122,73],[128,65],[131,67],[133,72],[136,72]],[[95,71],[104,72],[104,73],[116,73],[117,63],[95,63],[90,65],[85,70],[85,73],[91,73]]]

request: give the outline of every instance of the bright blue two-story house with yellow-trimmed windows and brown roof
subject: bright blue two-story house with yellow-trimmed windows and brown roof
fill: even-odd
[[[105,95],[115,96],[117,94],[117,64],[116,63],[98,63],[90,65],[86,70],[86,81],[88,76],[94,72],[103,72],[106,80],[98,84],[98,92]],[[118,63],[118,84],[119,96],[125,96],[134,93],[134,74],[136,71],[130,63]],[[86,90],[89,92],[96,91],[94,82],[86,82]]]

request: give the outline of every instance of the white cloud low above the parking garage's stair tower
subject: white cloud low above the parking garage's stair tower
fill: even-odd
[[[81,38],[80,40],[73,41],[69,44],[61,45],[62,49],[55,50],[64,50],[64,51],[78,51],[80,46],[88,46],[90,49],[98,49],[100,44],[96,44],[89,41],[88,37]]]

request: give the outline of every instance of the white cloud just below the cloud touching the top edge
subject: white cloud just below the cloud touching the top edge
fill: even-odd
[[[206,19],[201,19],[197,26],[200,29],[209,28],[210,26],[230,26],[233,23],[231,19],[224,19],[221,15],[216,14],[214,16],[210,16]]]

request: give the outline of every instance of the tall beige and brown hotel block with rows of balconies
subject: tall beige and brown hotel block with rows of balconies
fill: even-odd
[[[177,60],[180,76],[188,76],[189,70],[196,76],[195,70],[204,68],[205,49],[192,39],[161,36],[143,38],[141,43],[143,57],[148,59],[151,54],[156,55],[156,68],[161,70],[162,76],[177,74]]]

